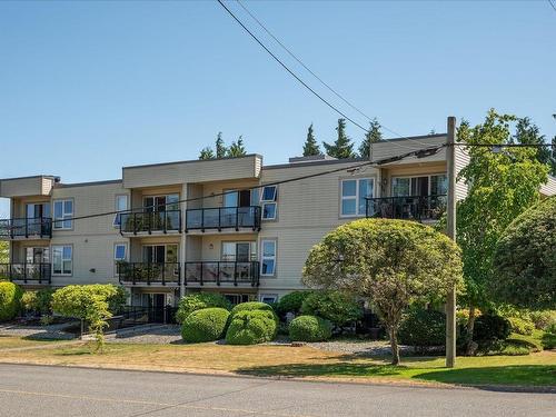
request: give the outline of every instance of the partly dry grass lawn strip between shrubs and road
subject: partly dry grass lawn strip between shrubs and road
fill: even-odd
[[[460,357],[457,368],[446,369],[443,358],[403,358],[403,366],[393,367],[385,358],[347,356],[308,346],[108,344],[105,354],[92,355],[90,345],[80,344],[10,351],[9,356],[2,355],[0,361],[356,380],[556,386],[555,351]]]

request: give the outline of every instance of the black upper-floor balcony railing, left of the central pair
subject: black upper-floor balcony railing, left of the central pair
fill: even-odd
[[[121,234],[180,232],[181,211],[138,211],[120,215]]]

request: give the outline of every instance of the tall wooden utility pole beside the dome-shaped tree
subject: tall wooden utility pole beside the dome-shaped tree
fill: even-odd
[[[456,241],[456,118],[448,117],[446,165],[448,170],[447,230],[448,237]],[[446,299],[446,367],[456,366],[456,288],[448,291]]]

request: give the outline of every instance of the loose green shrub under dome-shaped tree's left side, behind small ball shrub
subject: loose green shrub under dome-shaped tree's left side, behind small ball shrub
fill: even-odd
[[[342,327],[363,317],[363,307],[340,291],[314,291],[301,305],[301,314],[318,316]]]

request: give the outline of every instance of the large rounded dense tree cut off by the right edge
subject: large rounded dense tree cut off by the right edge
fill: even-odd
[[[490,280],[503,302],[556,308],[556,197],[520,215],[504,231]]]

